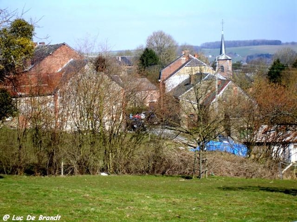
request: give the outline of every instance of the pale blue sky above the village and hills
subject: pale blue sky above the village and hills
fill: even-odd
[[[179,44],[225,40],[297,41],[297,0],[0,0],[39,22],[35,41],[77,48],[135,49],[162,30]]]

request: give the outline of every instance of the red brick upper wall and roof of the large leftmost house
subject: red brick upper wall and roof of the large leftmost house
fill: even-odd
[[[5,88],[13,97],[52,95],[62,77],[62,69],[72,60],[84,57],[66,43],[35,48],[28,68],[17,76],[7,76]]]

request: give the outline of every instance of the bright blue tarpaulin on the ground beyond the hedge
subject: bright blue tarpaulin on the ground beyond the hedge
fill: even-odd
[[[208,151],[222,151],[230,152],[238,156],[247,156],[247,147],[243,144],[237,144],[234,141],[209,141],[205,145],[206,150]],[[199,150],[197,148],[192,149],[193,151]]]

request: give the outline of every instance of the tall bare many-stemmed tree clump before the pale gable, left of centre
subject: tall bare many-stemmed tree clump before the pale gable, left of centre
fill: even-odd
[[[65,127],[72,133],[64,158],[74,174],[127,172],[141,141],[140,134],[127,134],[125,91],[116,76],[109,75],[108,66],[105,72],[88,63],[61,90],[70,107]]]

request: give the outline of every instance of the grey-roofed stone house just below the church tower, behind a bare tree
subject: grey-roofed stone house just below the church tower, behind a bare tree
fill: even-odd
[[[249,99],[240,87],[220,74],[189,76],[170,93],[179,105],[178,115],[183,128],[191,128],[193,121],[204,116],[215,115],[216,118],[224,119],[235,100]],[[231,129],[229,131],[228,134]]]

